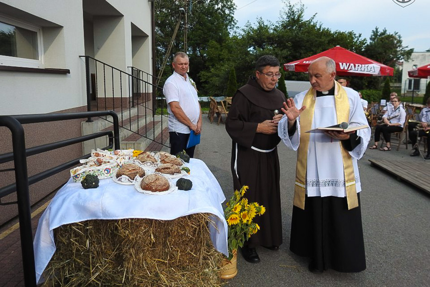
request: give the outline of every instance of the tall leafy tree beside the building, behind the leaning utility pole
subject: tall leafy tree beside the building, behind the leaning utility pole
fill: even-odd
[[[189,6],[185,7],[185,2]],[[204,92],[204,89],[200,89],[199,72],[208,68],[206,62],[209,43],[212,41],[223,43],[229,38],[229,29],[233,29],[236,24],[235,4],[233,0],[155,1],[157,73],[180,17],[179,8],[187,10],[187,50],[184,51],[184,16],[182,16],[179,30],[173,40],[173,47],[168,55],[167,65],[170,65],[173,60],[174,53],[186,52],[190,58],[189,75],[196,82],[199,90]],[[170,75],[170,71],[171,68],[165,68],[161,84]]]

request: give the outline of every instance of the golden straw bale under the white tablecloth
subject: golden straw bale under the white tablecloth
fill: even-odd
[[[219,287],[209,214],[170,221],[91,220],[54,230],[43,286]]]

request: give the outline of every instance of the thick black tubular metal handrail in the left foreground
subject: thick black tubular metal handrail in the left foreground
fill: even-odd
[[[33,235],[31,228],[29,185],[54,174],[57,174],[58,172],[75,165],[76,161],[79,162],[80,159],[79,158],[72,160],[70,162],[43,171],[28,178],[26,157],[29,155],[46,152],[49,149],[52,150],[75,144],[77,142],[83,142],[89,139],[91,136],[83,136],[77,139],[64,140],[56,143],[25,149],[25,133],[22,124],[82,119],[87,117],[91,118],[108,115],[113,117],[114,133],[97,133],[97,136],[95,137],[103,137],[106,135],[110,135],[109,146],[107,148],[115,147],[115,149],[120,149],[119,120],[118,115],[114,111],[0,116],[0,126],[7,127],[11,131],[13,150],[12,153],[1,155],[0,163],[11,161],[13,158],[15,171],[15,184],[1,188],[0,198],[13,192],[12,189],[16,190],[16,203],[18,205],[19,233],[21,239],[22,266],[25,287],[36,287],[36,270],[34,262]]]

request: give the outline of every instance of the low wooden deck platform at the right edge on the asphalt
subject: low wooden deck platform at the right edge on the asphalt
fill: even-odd
[[[369,159],[371,166],[382,168],[413,186],[430,193],[429,163],[424,160],[417,162],[400,160]]]

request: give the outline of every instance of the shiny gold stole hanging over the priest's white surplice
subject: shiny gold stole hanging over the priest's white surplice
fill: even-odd
[[[334,103],[336,107],[337,122],[349,123],[349,101],[346,91],[342,86],[335,82]],[[337,93],[336,93],[337,91]],[[295,185],[294,185],[294,206],[304,210],[304,198],[306,189],[306,170],[307,170],[307,151],[309,147],[310,133],[308,131],[312,126],[313,111],[315,109],[316,91],[311,87],[303,99],[303,106],[306,109],[300,114],[300,145],[297,150],[297,166],[295,169]],[[357,190],[355,188],[354,167],[352,165],[352,157],[342,146],[339,141],[340,150],[342,152],[344,178],[346,184],[346,200],[348,209],[358,207]]]

